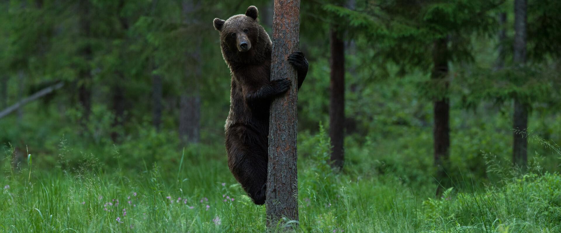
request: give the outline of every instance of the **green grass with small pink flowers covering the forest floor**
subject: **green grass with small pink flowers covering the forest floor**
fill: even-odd
[[[436,185],[426,181],[430,174],[411,180],[400,174],[406,168],[369,173],[364,165],[353,163],[341,173],[333,172],[323,129],[300,143],[304,155],[298,168],[298,232],[561,232],[557,173],[531,169],[525,175],[506,175],[491,164],[503,177],[500,182],[467,186],[473,181],[463,180],[434,198]],[[60,150],[64,154],[68,149]],[[122,169],[134,167],[128,164],[134,161],[114,149],[113,165],[85,154],[74,169],[45,169],[33,155],[14,163],[11,151],[6,151],[0,229],[264,232],[265,206],[254,205],[245,195],[224,158],[205,159],[205,153],[216,152],[195,146],[169,155],[181,159],[165,167],[137,161],[144,169]],[[364,160],[357,150],[347,154],[350,161]],[[230,199],[224,201],[226,196]]]

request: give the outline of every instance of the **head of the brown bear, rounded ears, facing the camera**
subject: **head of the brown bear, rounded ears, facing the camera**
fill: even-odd
[[[257,7],[250,6],[244,15],[234,15],[228,20],[214,18],[214,28],[220,32],[224,59],[234,55],[237,58],[259,56],[263,53],[259,50],[269,47],[269,35],[259,24],[257,15]]]

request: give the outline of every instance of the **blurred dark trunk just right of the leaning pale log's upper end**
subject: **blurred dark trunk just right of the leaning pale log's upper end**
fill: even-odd
[[[87,0],[82,0],[79,3],[79,11],[80,11],[80,35],[83,37],[82,40],[89,40],[90,39],[90,6]],[[80,53],[82,58],[85,61],[85,65],[82,64],[82,67],[79,71],[79,80],[78,80],[78,101],[82,107],[82,117],[80,119],[80,123],[82,127],[85,129],[86,124],[90,119],[91,114],[91,69],[90,69],[90,60],[91,60],[91,46],[89,42],[86,42],[86,45],[80,48]]]

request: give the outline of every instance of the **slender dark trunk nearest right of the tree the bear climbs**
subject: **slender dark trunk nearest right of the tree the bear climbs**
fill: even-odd
[[[333,146],[331,161],[333,167],[341,169],[344,163],[345,46],[343,40],[339,39],[339,35],[334,28],[329,32],[329,46],[331,49],[329,136],[331,137],[331,144]]]

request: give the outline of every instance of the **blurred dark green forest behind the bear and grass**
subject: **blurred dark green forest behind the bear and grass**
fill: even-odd
[[[273,0],[1,1],[3,166],[31,171],[31,154],[45,172],[158,167],[163,180],[208,173],[209,183],[235,183],[224,149],[230,74],[212,21],[250,5],[271,35]],[[385,183],[425,199],[516,177],[497,170],[559,172],[561,1],[305,0],[300,12],[310,64],[298,93],[302,186],[330,174],[333,196],[344,180],[365,179],[356,192],[374,195]],[[204,193],[201,183],[191,187]],[[357,208],[359,216],[367,209]],[[493,220],[482,220],[484,229]],[[303,229],[313,225],[306,221]]]

